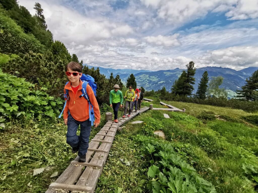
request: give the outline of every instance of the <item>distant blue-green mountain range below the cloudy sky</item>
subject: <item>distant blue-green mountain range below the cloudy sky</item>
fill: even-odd
[[[89,66],[91,67],[91,66]],[[95,67],[96,68],[96,67]],[[131,69],[112,69],[112,68],[102,68],[99,67],[100,73],[106,75],[109,78],[110,73],[113,72],[115,77],[119,74],[123,83],[126,82],[130,74],[134,74],[137,86],[143,86],[145,90],[159,90],[164,86],[166,90],[170,91],[171,86],[178,77],[180,77],[183,70],[186,69],[173,69],[173,70],[160,70],[160,71],[137,71]],[[228,96],[232,98],[236,95],[235,91],[241,89],[241,86],[245,85],[246,78],[250,77],[253,72],[258,70],[258,67],[248,67],[239,71],[233,70],[231,68],[222,68],[222,67],[203,67],[197,68],[195,74],[195,93],[198,88],[198,83],[201,80],[201,77],[205,71],[208,72],[209,79],[212,76],[222,76],[224,78],[222,88],[225,88],[228,92]]]

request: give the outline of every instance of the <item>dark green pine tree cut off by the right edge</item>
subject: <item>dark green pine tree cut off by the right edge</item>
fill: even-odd
[[[237,90],[238,98],[245,98],[247,101],[258,100],[258,70],[252,76],[246,78],[246,84],[242,86],[242,90]]]

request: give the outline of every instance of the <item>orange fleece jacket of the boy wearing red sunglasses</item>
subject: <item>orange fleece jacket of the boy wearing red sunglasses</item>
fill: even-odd
[[[69,92],[69,100],[66,102],[63,115],[64,119],[68,118],[68,110],[72,117],[77,121],[86,121],[89,118],[89,103],[84,96],[79,98],[82,94],[82,83],[83,82],[80,80],[79,89],[76,93],[72,90],[70,81],[65,85],[64,93],[66,93],[67,89]],[[86,92],[88,93],[91,104],[93,105],[95,115],[94,123],[100,123],[99,104],[90,85],[87,85]]]

